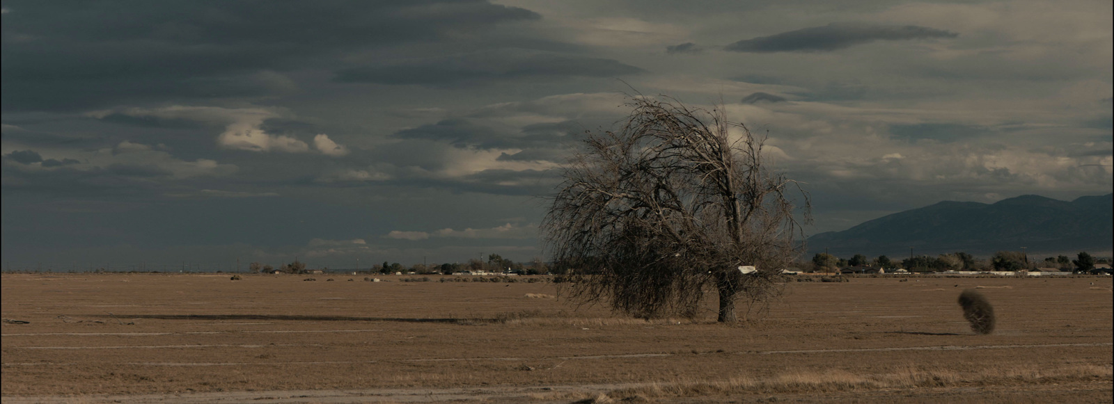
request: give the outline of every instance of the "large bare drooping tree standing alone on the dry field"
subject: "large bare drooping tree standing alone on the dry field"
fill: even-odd
[[[692,317],[715,290],[721,323],[736,321],[740,299],[765,307],[802,252],[794,215],[810,219],[808,194],[770,169],[765,138],[722,109],[647,97],[627,106],[620,130],[588,132],[543,224],[571,297]]]

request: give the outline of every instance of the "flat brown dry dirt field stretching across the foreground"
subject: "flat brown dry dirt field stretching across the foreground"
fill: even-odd
[[[1110,277],[793,282],[734,326],[577,308],[527,277],[307,277],[2,275],[3,403],[1114,400]]]

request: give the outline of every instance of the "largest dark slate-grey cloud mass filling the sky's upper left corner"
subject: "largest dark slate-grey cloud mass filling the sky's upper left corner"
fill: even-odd
[[[3,110],[267,95],[289,82],[257,75],[264,68],[539,18],[485,1],[8,1],[4,8]]]

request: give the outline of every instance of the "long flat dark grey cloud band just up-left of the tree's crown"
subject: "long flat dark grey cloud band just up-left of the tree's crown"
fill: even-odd
[[[616,77],[644,70],[623,62],[522,50],[485,51],[389,66],[342,69],[335,80],[380,85],[447,86],[467,81],[539,76]]]

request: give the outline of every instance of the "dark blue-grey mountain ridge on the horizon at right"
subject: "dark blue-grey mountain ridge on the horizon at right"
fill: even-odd
[[[1110,254],[1114,247],[1114,194],[1063,201],[1023,195],[995,204],[941,201],[862,223],[843,231],[809,238],[809,254],[889,255],[997,250],[1030,254],[1086,250]]]

